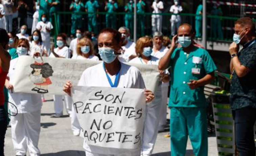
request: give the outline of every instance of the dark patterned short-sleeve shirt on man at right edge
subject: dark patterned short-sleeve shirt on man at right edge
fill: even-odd
[[[256,108],[256,39],[248,42],[238,53],[240,63],[250,69],[250,72],[238,77],[232,72],[230,102],[233,110],[252,106]]]

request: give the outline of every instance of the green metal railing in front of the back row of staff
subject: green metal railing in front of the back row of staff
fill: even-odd
[[[71,29],[71,14],[73,12],[55,12],[54,19],[56,21],[57,15],[60,17],[60,23],[59,23],[59,29],[57,29],[57,23],[55,22],[55,33],[54,36],[56,36],[57,33],[59,32],[64,32],[68,35],[70,35],[70,29]],[[87,20],[88,20],[88,14],[95,14],[93,12],[77,12],[75,14],[81,14],[82,15],[82,29],[83,30],[88,30],[87,26]],[[97,25],[98,25],[98,30],[101,30],[106,27],[106,17],[105,15],[107,14],[106,12],[98,12],[97,13],[99,17],[97,18]],[[124,24],[124,15],[125,14],[132,14],[129,12],[108,12],[108,14],[113,15],[116,17],[116,29],[118,29],[121,26],[125,26]],[[154,14],[160,14],[162,15],[162,33],[165,36],[171,37],[171,24],[170,24],[170,18],[171,18],[171,13],[154,13]],[[153,13],[137,13],[137,17],[143,17],[144,19],[144,35],[152,36],[152,24],[151,24],[151,16]],[[189,23],[193,27],[195,25],[195,17],[196,14],[191,14],[191,13],[181,13],[181,23]],[[225,17],[225,16],[213,16],[213,15],[207,15],[207,40],[223,40],[223,41],[232,41],[233,37],[233,27],[234,27],[234,22],[238,18],[232,18],[232,17]],[[256,22],[256,20],[254,20]],[[218,28],[221,26],[220,30],[223,35],[218,34]],[[140,25],[137,21],[137,38],[141,37],[141,30],[140,30]],[[131,38],[133,38],[133,32],[131,32]]]

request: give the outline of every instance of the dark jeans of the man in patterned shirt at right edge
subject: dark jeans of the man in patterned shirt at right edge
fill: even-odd
[[[250,106],[232,111],[235,122],[235,141],[239,156],[254,156],[255,143],[253,126],[256,108]]]

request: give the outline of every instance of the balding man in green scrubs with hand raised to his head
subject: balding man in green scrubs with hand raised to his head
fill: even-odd
[[[193,45],[194,33],[182,24],[172,38],[169,51],[160,59],[158,68],[172,68],[169,98],[171,156],[185,156],[190,138],[194,154],[207,156],[207,102],[204,85],[214,80],[216,66],[209,53]],[[178,39],[181,48],[175,49]]]

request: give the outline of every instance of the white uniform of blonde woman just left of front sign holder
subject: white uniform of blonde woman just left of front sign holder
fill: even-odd
[[[77,55],[76,57],[72,57],[72,59],[85,60],[86,58],[81,55]],[[95,60],[95,61],[99,60],[99,58],[97,56],[93,56],[93,55],[90,55],[88,59]],[[76,116],[73,106],[72,106],[72,112],[71,112],[70,117],[71,117],[71,129],[72,129],[73,133],[80,133],[81,126],[78,122],[78,119],[77,119],[77,116]]]

